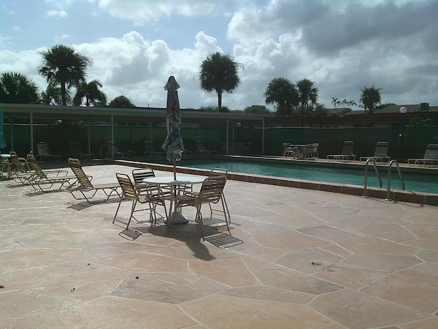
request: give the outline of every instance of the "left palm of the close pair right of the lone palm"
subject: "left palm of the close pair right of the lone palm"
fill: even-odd
[[[286,115],[292,113],[294,106],[298,106],[298,92],[295,85],[285,77],[274,77],[263,96],[267,104],[276,103],[276,112],[283,117],[283,125],[286,126]]]

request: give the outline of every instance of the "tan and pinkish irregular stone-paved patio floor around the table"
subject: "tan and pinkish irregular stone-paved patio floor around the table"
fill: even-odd
[[[1,328],[438,328],[437,207],[229,180],[232,235],[203,242],[17,185],[0,182]]]

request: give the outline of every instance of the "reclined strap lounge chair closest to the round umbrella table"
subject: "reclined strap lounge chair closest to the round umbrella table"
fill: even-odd
[[[109,199],[112,193],[116,193],[120,197],[120,194],[117,191],[118,188],[120,188],[118,182],[93,184],[91,182],[92,176],[88,176],[83,172],[79,159],[69,158],[68,164],[73,173],[75,173],[77,182],[70,184],[70,186],[66,188],[66,191],[70,192],[75,199],[86,199],[87,202],[90,202],[90,199],[96,195],[97,191],[103,191],[103,193],[105,193],[107,197],[104,201]],[[77,197],[75,192],[81,193],[82,197]]]

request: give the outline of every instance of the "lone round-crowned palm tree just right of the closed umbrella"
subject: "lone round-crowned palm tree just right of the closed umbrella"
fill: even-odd
[[[231,56],[216,52],[209,53],[201,64],[201,71],[196,73],[201,82],[201,89],[218,94],[218,110],[222,110],[222,93],[233,93],[233,90],[240,84],[239,69],[243,69],[243,64],[234,62]]]

